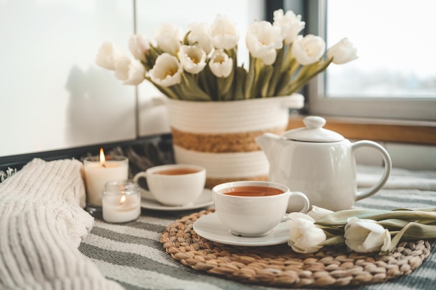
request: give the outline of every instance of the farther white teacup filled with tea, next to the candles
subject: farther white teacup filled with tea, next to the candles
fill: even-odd
[[[193,202],[203,193],[206,170],[192,164],[167,164],[137,173],[134,182],[138,184],[141,177],[147,179],[150,193],[157,202],[177,207]]]

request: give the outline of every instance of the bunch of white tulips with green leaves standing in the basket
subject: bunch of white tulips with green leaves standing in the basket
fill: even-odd
[[[316,35],[299,35],[305,23],[293,11],[274,11],[274,22],[253,22],[247,31],[248,68],[238,66],[239,34],[226,16],[212,25],[190,24],[187,33],[176,24],[161,24],[156,45],[132,35],[127,56],[111,42],[98,50],[96,63],[114,70],[127,85],[144,79],[164,95],[192,101],[229,101],[290,95],[330,63],[357,58],[357,50],[343,38],[327,49]]]

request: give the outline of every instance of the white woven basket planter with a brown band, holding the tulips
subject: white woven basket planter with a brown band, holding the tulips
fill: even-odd
[[[254,140],[270,132],[283,134],[290,108],[304,97],[189,102],[167,99],[176,163],[206,168],[206,187],[237,180],[267,180],[269,163]]]

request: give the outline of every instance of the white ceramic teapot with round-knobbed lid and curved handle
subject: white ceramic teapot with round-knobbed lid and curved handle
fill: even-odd
[[[322,128],[325,119],[321,117],[309,116],[303,122],[306,127],[286,131],[283,136],[266,133],[256,138],[270,161],[271,182],[302,191],[311,205],[332,211],[351,209],[356,200],[377,193],[387,182],[392,163],[381,145],[368,140],[350,143],[341,134]],[[382,177],[364,191],[357,191],[354,152],[359,147],[379,150],[384,160]],[[296,209],[289,205],[290,211]]]

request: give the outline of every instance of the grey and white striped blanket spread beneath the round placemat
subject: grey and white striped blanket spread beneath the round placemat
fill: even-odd
[[[380,176],[379,172],[377,168],[359,167],[360,184],[365,186],[366,183],[371,183],[371,179]],[[395,188],[396,180],[400,189]],[[355,207],[371,209],[436,207],[435,181],[436,172],[405,171],[394,168],[387,188],[371,198],[356,202]],[[425,190],[416,188],[425,188]],[[201,209],[195,211],[199,210]],[[118,282],[125,289],[280,289],[227,280],[194,271],[173,260],[159,242],[160,234],[174,220],[195,211],[167,212],[143,209],[138,220],[124,225],[113,225],[96,220],[91,234],[79,245],[79,250],[91,258],[105,277]],[[432,251],[428,259],[411,275],[381,284],[352,287],[352,289],[435,289],[436,241],[431,241],[431,246]]]

